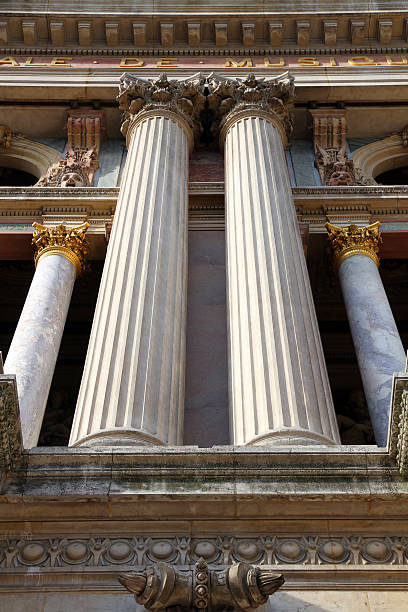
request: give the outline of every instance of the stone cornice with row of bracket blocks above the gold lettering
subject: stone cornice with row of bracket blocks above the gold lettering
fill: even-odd
[[[10,3],[8,3],[10,4]],[[0,4],[0,41],[9,47],[33,49],[53,47],[54,49],[103,49],[118,50],[133,46],[133,53],[140,48],[209,47],[222,49],[237,46],[249,48],[290,48],[307,49],[313,46],[348,46],[358,49],[364,46],[404,46],[407,41],[406,6],[393,3],[393,10],[387,6],[377,8],[370,3],[348,5],[345,10],[339,4],[325,4],[319,10],[305,10],[304,3],[293,3],[295,10],[270,11],[265,3],[233,3],[211,6],[184,2],[177,7],[144,4],[137,9],[122,3],[109,11],[102,4],[78,6],[55,10],[26,2],[13,8]],[[276,3],[273,3],[276,5]],[[337,4],[337,6],[336,6]],[[30,6],[31,5],[31,6]],[[287,3],[285,3],[287,5]],[[378,4],[378,7],[380,4]],[[4,10],[8,9],[8,10]],[[31,10],[30,10],[31,9]],[[130,10],[129,10],[130,9]]]

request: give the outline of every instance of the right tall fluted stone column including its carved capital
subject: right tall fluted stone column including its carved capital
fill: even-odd
[[[283,146],[292,79],[215,76],[210,90],[225,141],[232,442],[338,443]]]

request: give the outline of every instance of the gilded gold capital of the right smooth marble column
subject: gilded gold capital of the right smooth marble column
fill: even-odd
[[[343,261],[353,255],[371,257],[378,266],[380,263],[378,251],[382,242],[379,227],[379,221],[363,227],[354,223],[344,227],[326,223],[325,228],[329,233],[336,269],[338,270]]]

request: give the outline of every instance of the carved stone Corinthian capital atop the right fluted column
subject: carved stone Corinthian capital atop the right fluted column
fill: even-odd
[[[294,82],[288,72],[276,78],[226,79],[211,74],[208,79],[208,103],[215,114],[215,130],[225,131],[238,118],[251,113],[271,118],[283,136],[293,129]]]

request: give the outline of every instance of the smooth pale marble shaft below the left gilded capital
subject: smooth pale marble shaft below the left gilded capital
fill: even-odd
[[[24,448],[38,442],[75,276],[61,255],[39,260],[4,364],[17,378]]]

